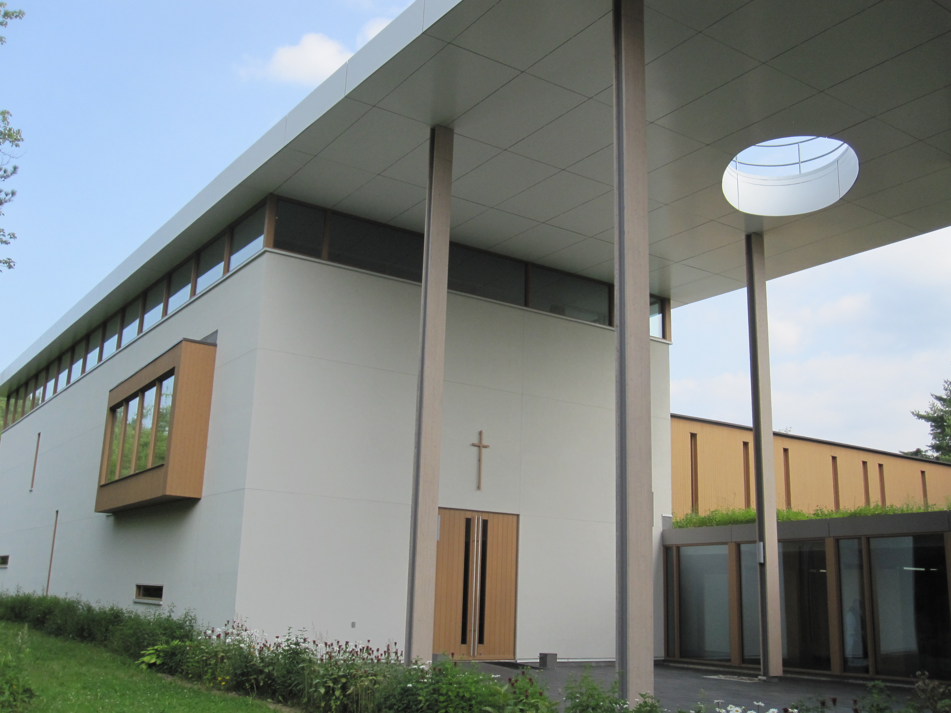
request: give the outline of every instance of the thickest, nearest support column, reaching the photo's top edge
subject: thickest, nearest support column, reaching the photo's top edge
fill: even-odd
[[[614,0],[617,671],[653,692],[653,493],[644,0]]]

